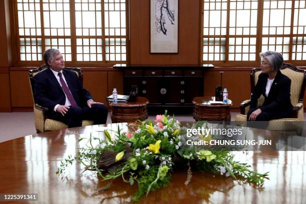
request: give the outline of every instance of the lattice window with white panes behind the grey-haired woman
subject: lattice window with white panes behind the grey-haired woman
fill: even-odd
[[[202,63],[258,65],[260,51],[306,59],[305,0],[202,0]]]

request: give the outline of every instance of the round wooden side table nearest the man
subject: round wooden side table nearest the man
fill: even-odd
[[[133,122],[147,118],[146,105],[149,103],[146,97],[136,97],[135,102],[109,102],[111,107],[111,122]]]

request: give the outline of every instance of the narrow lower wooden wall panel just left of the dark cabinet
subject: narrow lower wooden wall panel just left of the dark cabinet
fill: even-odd
[[[107,96],[112,93],[113,88],[118,94],[123,94],[123,72],[107,71]]]

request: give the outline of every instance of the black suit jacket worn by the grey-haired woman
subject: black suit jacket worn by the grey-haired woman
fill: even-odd
[[[264,96],[264,102],[262,106],[259,107],[262,112],[292,112],[293,106],[290,101],[290,78],[278,70],[268,95],[265,95],[267,78],[267,74],[259,74],[254,91],[251,93],[250,108],[256,108],[257,99],[262,94]]]

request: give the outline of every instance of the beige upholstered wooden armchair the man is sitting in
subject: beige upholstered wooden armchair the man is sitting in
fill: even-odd
[[[33,98],[33,106],[34,106],[34,122],[35,122],[35,129],[36,132],[44,132],[44,131],[51,131],[51,130],[58,130],[58,129],[63,129],[67,128],[68,126],[60,121],[49,119],[46,117],[46,111],[48,110],[47,107],[43,107],[35,102],[34,98],[34,77],[35,75],[48,68],[45,64],[39,66],[36,69],[29,70],[29,82],[30,82],[30,87],[31,87],[31,92],[32,92],[32,98]],[[74,71],[77,76],[79,77],[81,83],[83,83],[83,73],[80,68],[65,68]],[[83,120],[82,121],[82,126],[85,125],[92,125],[93,121],[92,120]]]

